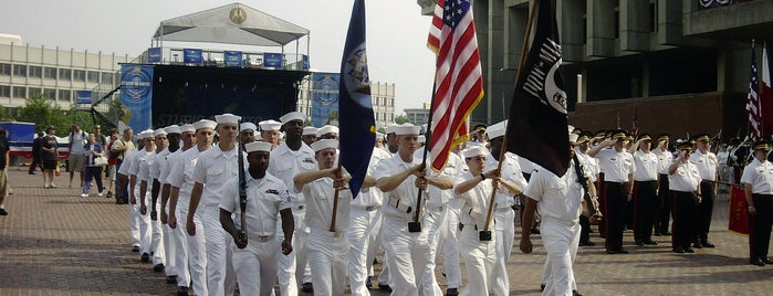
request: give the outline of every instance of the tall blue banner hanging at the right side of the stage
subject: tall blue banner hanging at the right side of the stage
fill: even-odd
[[[327,117],[338,109],[338,73],[312,73],[312,125],[324,126]],[[335,118],[337,119],[337,118]]]

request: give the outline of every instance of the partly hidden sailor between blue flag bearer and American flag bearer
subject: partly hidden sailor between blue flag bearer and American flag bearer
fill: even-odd
[[[390,157],[389,152],[374,145],[367,176],[373,176],[378,161]],[[353,296],[370,295],[368,288],[372,286],[373,261],[380,246],[383,199],[384,192],[376,187],[370,187],[359,192],[352,201],[346,235],[351,245],[348,275]],[[386,279],[384,281],[386,283]]]

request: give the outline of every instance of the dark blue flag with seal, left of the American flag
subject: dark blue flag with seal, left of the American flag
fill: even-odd
[[[352,175],[349,188],[357,197],[367,175],[376,142],[370,80],[365,51],[365,1],[355,0],[341,60],[338,91],[341,165]]]

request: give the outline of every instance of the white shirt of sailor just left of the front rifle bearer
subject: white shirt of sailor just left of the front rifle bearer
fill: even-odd
[[[239,177],[239,154],[236,147],[230,151],[223,151],[219,145],[199,155],[199,160],[194,168],[194,181],[205,184],[201,200],[205,205],[218,205],[222,199],[222,192],[231,179]],[[247,160],[244,160],[247,163]]]

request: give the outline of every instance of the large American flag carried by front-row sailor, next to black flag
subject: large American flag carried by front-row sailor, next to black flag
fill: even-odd
[[[440,171],[456,145],[467,140],[467,120],[483,98],[483,74],[469,0],[438,0],[427,42],[438,54],[432,102],[431,166]]]

